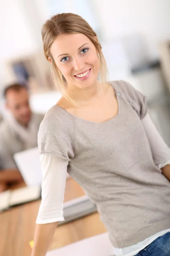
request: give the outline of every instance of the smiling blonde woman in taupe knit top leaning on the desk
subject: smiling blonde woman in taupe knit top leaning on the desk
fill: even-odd
[[[62,98],[38,134],[42,203],[31,256],[45,256],[64,219],[67,172],[97,205],[116,256],[170,255],[170,149],[145,97],[107,81],[102,47],[82,17],[51,17],[42,40]]]

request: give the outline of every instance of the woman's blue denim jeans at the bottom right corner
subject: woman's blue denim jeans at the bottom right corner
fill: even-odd
[[[170,256],[170,232],[155,239],[135,256]]]

